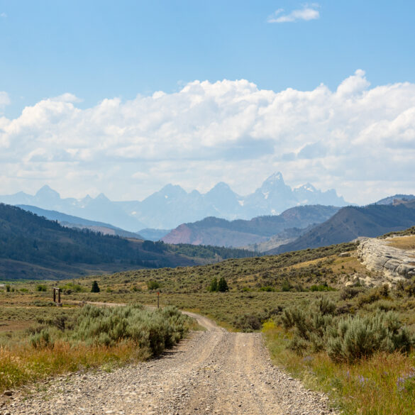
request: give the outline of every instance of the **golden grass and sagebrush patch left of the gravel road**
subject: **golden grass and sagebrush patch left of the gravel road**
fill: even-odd
[[[51,306],[50,292],[31,292],[32,285],[0,294],[0,391],[60,373],[145,360],[196,328],[172,307]]]

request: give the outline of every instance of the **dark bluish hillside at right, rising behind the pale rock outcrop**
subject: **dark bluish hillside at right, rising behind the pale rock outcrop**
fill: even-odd
[[[328,221],[321,223],[292,243],[281,245],[268,254],[317,248],[343,243],[367,236],[375,238],[384,233],[402,231],[415,224],[415,201],[404,204],[374,204],[365,207],[348,206]]]

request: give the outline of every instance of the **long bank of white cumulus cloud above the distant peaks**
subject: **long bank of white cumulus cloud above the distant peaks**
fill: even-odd
[[[47,181],[67,196],[97,189],[142,199],[169,182],[203,192],[225,181],[247,194],[277,170],[289,184],[334,187],[358,203],[386,195],[392,183],[415,192],[408,82],[370,87],[357,70],[333,91],[274,92],[224,79],[87,109],[78,101],[63,94],[18,118],[0,116],[1,193],[33,193]],[[7,94],[0,102],[9,103]]]

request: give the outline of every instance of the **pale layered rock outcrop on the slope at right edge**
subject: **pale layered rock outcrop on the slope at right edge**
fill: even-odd
[[[358,256],[368,270],[382,272],[391,282],[415,277],[415,250],[389,245],[391,238],[360,241]]]

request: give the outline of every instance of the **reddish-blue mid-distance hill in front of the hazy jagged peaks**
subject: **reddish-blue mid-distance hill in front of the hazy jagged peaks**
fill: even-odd
[[[165,243],[191,243],[241,247],[263,243],[285,231],[285,240],[297,237],[299,229],[331,218],[339,210],[335,206],[297,206],[280,215],[258,216],[250,221],[227,221],[215,217],[194,223],[184,223],[173,229],[162,241]],[[288,230],[292,229],[292,232]]]

